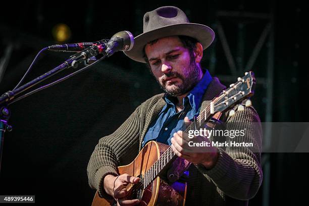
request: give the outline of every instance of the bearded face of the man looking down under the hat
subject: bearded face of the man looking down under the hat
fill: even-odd
[[[190,58],[189,50],[183,47],[178,36],[161,38],[152,45],[147,44],[145,54],[153,76],[172,96],[187,93],[202,77],[201,69],[195,59]]]

